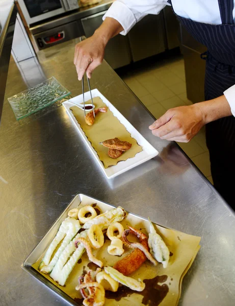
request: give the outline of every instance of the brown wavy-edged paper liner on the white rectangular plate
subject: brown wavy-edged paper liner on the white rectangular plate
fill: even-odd
[[[94,97],[93,103],[95,108],[106,107],[106,104],[103,103],[100,97]],[[91,104],[91,100],[86,101],[86,104]],[[128,158],[133,158],[137,153],[142,151],[142,147],[134,138],[132,138],[132,136],[130,136],[130,133],[126,131],[125,126],[109,109],[107,113],[97,113],[95,116],[95,123],[91,126],[86,124],[84,111],[82,109],[77,106],[73,106],[70,108],[70,110],[72,111],[77,122],[80,124],[92,147],[97,152],[98,157],[105,168],[114,166],[120,161],[126,161]],[[115,137],[132,143],[132,147],[125,151],[119,158],[112,159],[108,156],[108,148],[100,145],[99,142]]]

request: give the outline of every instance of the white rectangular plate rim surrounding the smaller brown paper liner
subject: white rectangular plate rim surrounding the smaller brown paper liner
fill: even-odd
[[[94,150],[94,148],[91,146],[91,143],[88,141],[85,133],[81,129],[80,124],[77,122],[76,118],[73,116],[72,111],[70,111],[70,107],[74,106],[74,104],[81,104],[83,103],[83,95],[78,95],[72,99],[69,99],[68,101],[65,101],[63,103],[63,106],[65,107],[69,117],[71,118],[73,124],[76,126],[77,130],[79,131],[80,135],[82,136],[83,140],[89,147],[90,151],[92,152],[96,162],[100,165],[100,168],[102,169],[103,173],[105,173],[106,177],[108,179],[112,179],[113,177],[132,169],[150,159],[157,156],[159,152],[135,129],[135,127],[129,123],[128,120],[110,103],[109,100],[105,96],[103,96],[98,89],[93,89],[92,91],[92,97],[100,97],[105,103],[110,111],[114,114],[115,117],[118,118],[118,120],[125,126],[126,130],[130,133],[130,135],[136,139],[139,145],[142,146],[143,150],[133,158],[129,158],[126,161],[121,161],[117,163],[115,166],[111,166],[109,168],[105,168],[102,164],[102,162],[99,160],[99,157]],[[88,101],[91,98],[90,92],[85,93],[85,101]]]

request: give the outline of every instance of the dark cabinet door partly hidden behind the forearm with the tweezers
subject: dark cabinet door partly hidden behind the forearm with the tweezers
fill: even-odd
[[[94,34],[95,30],[102,23],[102,17],[105,13],[106,11],[81,19],[86,37]],[[128,38],[126,36],[117,35],[108,42],[105,50],[105,60],[113,69],[130,63]]]

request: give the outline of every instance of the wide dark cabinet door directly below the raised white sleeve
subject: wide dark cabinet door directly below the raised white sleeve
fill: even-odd
[[[164,52],[163,14],[145,16],[129,31],[128,38],[134,62]]]

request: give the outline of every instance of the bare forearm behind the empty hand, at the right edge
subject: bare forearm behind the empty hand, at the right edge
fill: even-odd
[[[224,95],[212,100],[196,103],[194,106],[202,112],[205,124],[232,115],[231,108]]]

